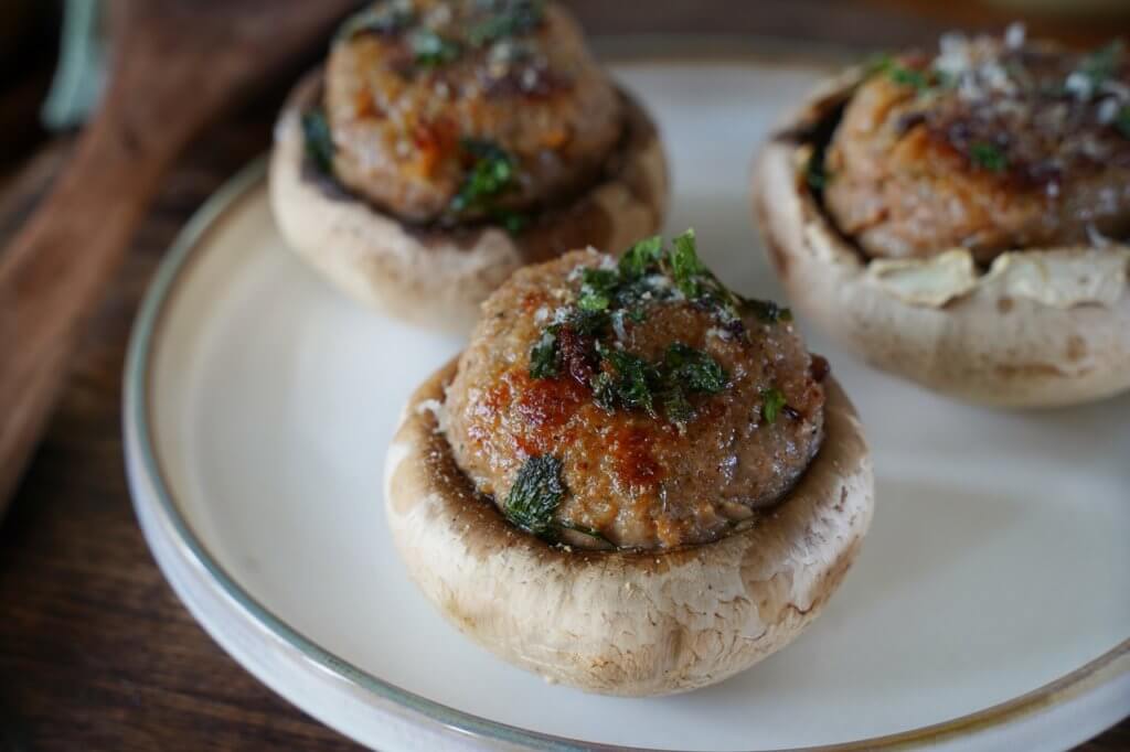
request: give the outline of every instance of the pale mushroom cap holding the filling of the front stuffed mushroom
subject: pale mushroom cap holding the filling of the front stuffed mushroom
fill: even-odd
[[[452,624],[548,681],[627,697],[720,682],[796,638],[859,551],[871,461],[831,377],[824,445],[779,507],[712,543],[636,553],[549,544],[475,495],[442,430],[455,369],[416,391],[389,448],[393,541]]]

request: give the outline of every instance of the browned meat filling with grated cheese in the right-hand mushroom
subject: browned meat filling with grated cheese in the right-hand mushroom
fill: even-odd
[[[1130,235],[1130,54],[942,38],[878,65],[827,150],[825,203],[870,255],[1095,245]]]

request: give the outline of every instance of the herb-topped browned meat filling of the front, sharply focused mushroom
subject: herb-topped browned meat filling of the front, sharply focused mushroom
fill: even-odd
[[[520,526],[576,545],[727,535],[820,445],[827,364],[786,309],[727,290],[687,234],[617,265],[572,252],[485,304],[446,399],[462,470]]]

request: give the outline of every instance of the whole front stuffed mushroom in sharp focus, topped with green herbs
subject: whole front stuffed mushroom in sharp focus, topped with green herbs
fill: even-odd
[[[516,272],[409,400],[385,483],[397,549],[451,622],[623,696],[788,644],[854,559],[873,486],[827,362],[693,233]]]

